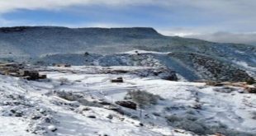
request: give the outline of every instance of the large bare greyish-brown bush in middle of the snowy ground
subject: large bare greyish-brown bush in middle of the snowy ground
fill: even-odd
[[[150,105],[156,105],[161,99],[160,96],[154,95],[152,93],[149,93],[147,91],[129,91],[126,94],[125,99],[130,99],[132,101],[135,101],[140,108],[145,108],[145,106],[150,106]]]

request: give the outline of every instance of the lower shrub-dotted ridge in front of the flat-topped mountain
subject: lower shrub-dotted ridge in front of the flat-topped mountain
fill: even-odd
[[[133,50],[121,54],[55,54],[36,61],[38,64],[69,63],[72,65],[99,66],[144,66],[166,67],[176,71],[188,81],[246,81],[254,77],[252,68],[242,68],[239,64],[227,62],[225,59],[212,59],[211,56],[195,53],[161,53],[144,50]]]

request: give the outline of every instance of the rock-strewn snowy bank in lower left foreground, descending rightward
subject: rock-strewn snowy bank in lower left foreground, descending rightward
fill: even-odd
[[[58,75],[61,76],[61,74]],[[70,76],[70,80],[73,77],[79,77]],[[88,76],[92,76],[95,80],[91,83],[96,84],[97,80],[101,80],[104,75]],[[54,77],[52,76],[52,82],[27,82],[0,76],[2,97],[0,120],[5,121],[5,124],[1,124],[1,135],[163,135],[165,133],[191,135],[191,133],[178,133],[174,132],[174,129],[160,128],[151,124],[141,127],[139,120],[130,119],[112,110],[83,106],[78,102],[51,95],[53,91],[63,91],[59,86],[59,79],[55,80]],[[76,91],[74,88],[81,85],[87,85],[87,83],[70,86],[67,84],[62,87],[73,88],[72,90]],[[84,91],[87,100],[97,101],[96,98],[90,98],[95,89],[82,86],[78,90]],[[110,115],[111,118],[108,117]],[[13,120],[17,122],[14,123]],[[51,132],[52,128],[57,130]]]

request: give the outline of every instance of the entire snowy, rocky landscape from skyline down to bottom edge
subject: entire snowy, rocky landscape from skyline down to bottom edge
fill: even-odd
[[[153,28],[0,28],[0,135],[255,136],[256,48]]]

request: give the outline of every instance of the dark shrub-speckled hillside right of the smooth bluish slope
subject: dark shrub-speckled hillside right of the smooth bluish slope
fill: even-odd
[[[234,64],[221,59],[212,59],[207,55],[194,53],[174,53],[170,55],[196,71],[195,73],[201,79],[220,82],[246,82],[249,78],[252,78],[244,70],[235,67]]]

